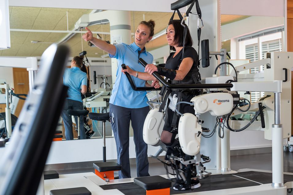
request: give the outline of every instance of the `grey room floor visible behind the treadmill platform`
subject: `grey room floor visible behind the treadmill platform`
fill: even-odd
[[[293,173],[293,153],[284,152],[284,172]],[[272,170],[272,153],[265,154],[248,154],[231,156],[231,169],[259,169],[259,170]],[[137,177],[136,165],[130,165],[131,177]],[[78,168],[78,169],[67,169],[58,170],[59,174],[71,174],[71,173],[82,173],[94,171],[93,168]],[[149,164],[150,175],[163,175],[166,174],[166,170],[161,162]]]

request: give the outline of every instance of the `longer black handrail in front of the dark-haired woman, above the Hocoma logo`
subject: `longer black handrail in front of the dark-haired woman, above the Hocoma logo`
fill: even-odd
[[[138,59],[144,67],[148,64],[142,58]],[[168,89],[209,89],[209,88],[232,88],[233,84],[170,84],[157,72],[153,72],[152,75],[160,81]]]

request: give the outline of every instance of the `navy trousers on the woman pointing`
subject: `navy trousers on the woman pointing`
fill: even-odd
[[[119,179],[130,178],[129,164],[129,126],[133,128],[133,139],[136,152],[137,177],[148,174],[148,145],[144,142],[142,131],[149,107],[125,108],[110,104],[110,117],[114,117],[111,124],[116,140],[117,162],[122,166]]]

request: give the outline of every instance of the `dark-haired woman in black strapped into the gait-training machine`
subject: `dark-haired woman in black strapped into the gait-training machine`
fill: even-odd
[[[145,73],[139,72],[138,78],[143,80],[155,80],[155,77],[152,76],[153,72],[159,73],[161,76],[165,76],[170,79],[171,84],[195,84],[200,80],[199,75],[199,56],[195,49],[192,47],[192,38],[187,30],[187,35],[185,39],[185,47],[183,53],[183,33],[184,27],[181,25],[180,21],[170,21],[166,30],[166,37],[170,49],[174,52],[170,53],[169,57],[166,60],[166,64],[160,64],[156,66],[154,64],[147,64],[145,67]],[[182,55],[183,53],[183,55]],[[164,67],[162,67],[162,66]],[[127,69],[122,70],[122,72],[128,72],[130,75],[136,76],[136,71],[133,71],[127,66]],[[155,88],[159,88],[160,84],[156,82]],[[174,146],[175,137],[178,133],[178,122],[179,117],[177,117],[175,111],[175,105],[177,103],[177,98],[180,101],[190,102],[190,100],[197,95],[198,91],[196,90],[166,90],[166,93],[162,95],[168,96],[168,108],[166,110],[166,119],[163,127],[163,132],[161,134],[161,141],[167,146]],[[181,113],[194,113],[194,109],[189,104],[180,104],[179,111]],[[177,141],[178,143],[178,141]],[[172,150],[173,147],[169,147],[167,155],[175,153],[177,151]],[[177,152],[178,153],[178,152]],[[185,155],[184,158],[191,159],[191,156]],[[186,182],[177,177],[176,183],[173,186],[175,190],[186,190],[186,189],[195,189],[200,187],[198,180],[191,180],[191,169],[195,167],[184,166],[185,176],[187,178]]]

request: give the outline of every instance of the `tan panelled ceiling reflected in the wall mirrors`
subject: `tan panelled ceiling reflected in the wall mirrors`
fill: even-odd
[[[92,10],[85,9],[61,9],[61,8],[39,8],[39,7],[9,7],[10,28],[11,29],[36,29],[36,30],[73,30],[75,22],[83,15],[89,14]],[[146,21],[153,19],[156,22],[154,33],[160,33],[166,29],[172,13],[131,11],[131,33],[137,28],[139,22],[144,18]],[[244,19],[247,16],[222,15],[222,23]],[[175,14],[175,19],[179,19]],[[103,25],[89,26],[92,31],[110,32],[109,23]],[[83,29],[84,32],[85,29]],[[67,33],[36,33],[36,32],[16,32],[10,31],[11,49],[0,51],[0,56],[40,56],[50,45],[48,43],[33,44],[31,41],[59,42]],[[97,35],[95,35],[97,36]],[[100,34],[103,40],[110,41],[110,35]],[[134,36],[132,36],[132,41]],[[76,33],[66,44],[70,47],[72,56],[78,55],[82,51],[81,34]],[[148,51],[157,49],[167,44],[165,35],[149,42],[146,45]],[[87,51],[88,57],[101,57],[104,53],[101,49],[90,47],[83,41],[83,50]]]

